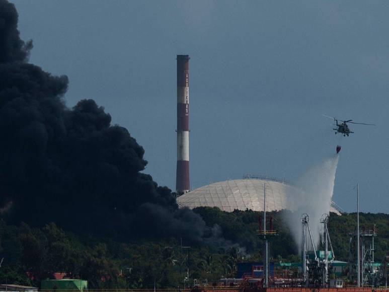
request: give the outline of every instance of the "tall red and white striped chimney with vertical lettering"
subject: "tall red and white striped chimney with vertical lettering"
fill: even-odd
[[[177,55],[177,194],[189,185],[189,55]]]

